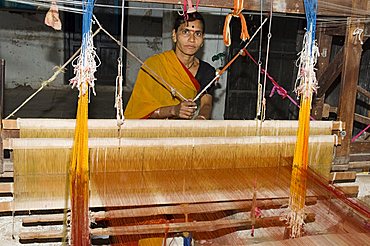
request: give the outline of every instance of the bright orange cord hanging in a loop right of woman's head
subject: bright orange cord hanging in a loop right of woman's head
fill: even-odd
[[[245,21],[244,15],[242,14],[244,6],[244,0],[234,0],[234,9],[233,11],[228,14],[225,18],[225,24],[224,24],[224,43],[226,46],[230,46],[231,44],[231,38],[230,38],[230,21],[232,17],[240,18],[241,22],[241,33],[240,38],[243,41],[246,41],[249,39],[249,33],[247,28],[247,22]]]

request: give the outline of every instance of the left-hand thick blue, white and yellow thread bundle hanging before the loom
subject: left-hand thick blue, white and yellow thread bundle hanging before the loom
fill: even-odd
[[[92,12],[94,1],[83,5],[81,54],[75,67],[76,77],[71,79],[79,90],[76,127],[69,175],[71,184],[71,243],[90,245],[89,222],[89,148],[88,102],[90,89],[94,91],[96,53],[92,37]]]

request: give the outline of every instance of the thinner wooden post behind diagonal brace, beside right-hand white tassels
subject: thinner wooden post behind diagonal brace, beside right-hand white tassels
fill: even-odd
[[[321,27],[317,30],[317,40],[318,46],[320,49],[320,56],[317,58],[317,74],[316,78],[320,81],[320,77],[323,75],[326,67],[329,65],[330,62],[330,52],[331,52],[331,43],[333,37],[330,35],[325,34],[325,27]],[[320,85],[319,85],[320,87]],[[322,119],[322,111],[325,102],[325,95],[321,97],[316,97],[313,102],[312,114],[313,117],[317,120]]]

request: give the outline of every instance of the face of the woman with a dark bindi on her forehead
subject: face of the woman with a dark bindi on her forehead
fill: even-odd
[[[189,21],[181,24],[172,32],[176,52],[193,56],[203,44],[203,26],[200,20]]]

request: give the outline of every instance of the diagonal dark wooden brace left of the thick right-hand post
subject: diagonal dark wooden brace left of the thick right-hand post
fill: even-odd
[[[328,64],[321,72],[319,77],[319,89],[317,91],[317,97],[323,97],[326,91],[330,88],[333,82],[338,78],[339,74],[342,72],[343,67],[343,57],[344,57],[344,47],[342,47],[339,52],[335,55],[333,61]]]

